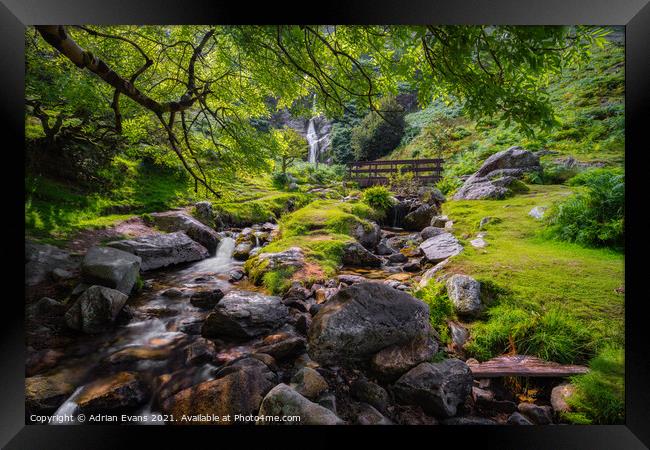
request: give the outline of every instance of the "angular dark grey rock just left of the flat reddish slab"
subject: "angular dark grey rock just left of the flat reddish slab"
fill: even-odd
[[[421,363],[395,383],[399,402],[418,405],[434,416],[452,417],[472,391],[472,373],[459,359]]]

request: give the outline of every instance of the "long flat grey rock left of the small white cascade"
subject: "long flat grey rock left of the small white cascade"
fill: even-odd
[[[142,258],[140,268],[143,271],[199,261],[209,256],[205,247],[182,231],[149,234],[135,239],[109,242],[106,245]]]

